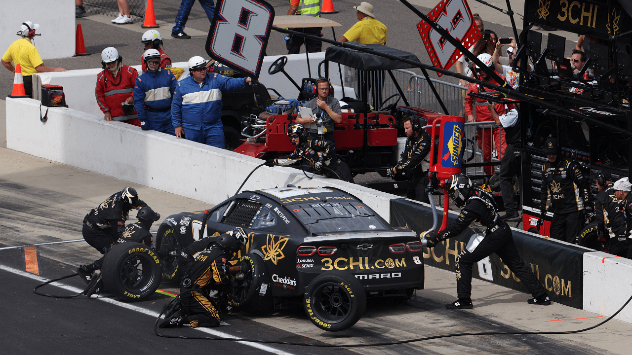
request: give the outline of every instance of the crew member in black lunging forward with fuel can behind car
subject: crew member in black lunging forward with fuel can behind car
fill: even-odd
[[[461,174],[454,174],[446,181],[446,188],[450,198],[461,214],[451,226],[429,234],[428,248],[433,248],[439,242],[454,238],[465,231],[471,222],[478,222],[482,227],[472,226],[477,232],[473,234],[466,248],[456,258],[456,293],[458,299],[446,304],[448,310],[463,310],[473,308],[471,301],[472,265],[496,253],[518,279],[531,292],[533,298],[527,300],[530,304],[548,306],[551,304],[549,295],[542,284],[529,270],[520,258],[516,244],[514,244],[511,229],[498,215],[497,206],[487,186],[472,186],[471,180]],[[487,191],[489,189],[489,191]],[[480,230],[480,232],[477,231]]]

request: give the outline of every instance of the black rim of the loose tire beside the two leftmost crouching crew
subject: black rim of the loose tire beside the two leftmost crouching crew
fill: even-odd
[[[140,293],[149,289],[155,279],[154,259],[147,254],[131,254],[121,264],[119,280],[131,293]]]

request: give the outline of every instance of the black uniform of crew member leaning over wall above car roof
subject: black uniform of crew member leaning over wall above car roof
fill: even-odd
[[[329,169],[335,171],[341,180],[353,183],[353,176],[351,175],[351,170],[349,170],[349,165],[334,152],[336,152],[336,145],[332,141],[314,137],[301,138],[294,152],[277,158],[276,162],[279,165],[289,165],[303,159],[315,167],[315,169],[318,169],[317,163],[321,162],[323,165],[329,167]],[[326,169],[322,171],[322,173],[327,176],[327,178],[337,178],[336,174]]]

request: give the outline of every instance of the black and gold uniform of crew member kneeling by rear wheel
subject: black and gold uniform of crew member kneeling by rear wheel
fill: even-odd
[[[210,300],[202,289],[227,284],[226,253],[216,244],[217,238],[202,238],[186,246],[179,263],[183,270],[180,297],[184,322],[191,327],[217,327],[221,320],[217,304]]]

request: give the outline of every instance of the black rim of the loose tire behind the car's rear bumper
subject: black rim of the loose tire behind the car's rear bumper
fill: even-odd
[[[349,292],[335,282],[320,285],[312,297],[312,311],[327,323],[342,322],[351,312]]]

